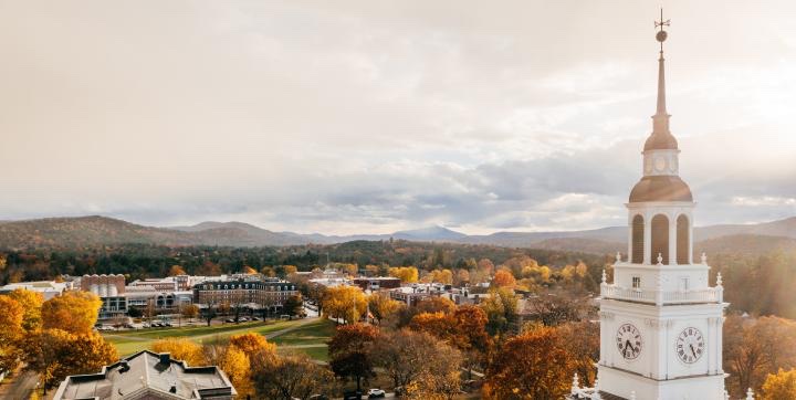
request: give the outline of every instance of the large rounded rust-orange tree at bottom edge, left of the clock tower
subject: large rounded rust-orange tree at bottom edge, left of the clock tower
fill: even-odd
[[[572,355],[554,328],[506,340],[486,368],[488,399],[562,399],[569,390]]]

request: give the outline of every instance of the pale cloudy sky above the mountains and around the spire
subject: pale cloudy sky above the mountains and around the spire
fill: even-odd
[[[622,225],[668,109],[695,223],[796,215],[793,1],[0,1],[0,220]]]

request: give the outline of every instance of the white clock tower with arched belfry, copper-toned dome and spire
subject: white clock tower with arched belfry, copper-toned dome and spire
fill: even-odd
[[[643,147],[643,177],[630,192],[628,257],[617,254],[614,282],[600,285],[598,382],[573,386],[570,398],[724,400],[721,275],[710,286],[705,257],[694,263],[693,208],[678,176],[680,150],[669,131],[663,27],[658,59],[658,107]]]

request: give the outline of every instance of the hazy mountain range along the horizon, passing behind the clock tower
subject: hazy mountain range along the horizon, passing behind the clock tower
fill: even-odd
[[[768,245],[789,248],[796,241],[796,218],[757,223],[725,224],[696,228],[694,239],[709,249],[724,245],[737,248],[748,245],[761,249]],[[776,236],[772,240],[750,239],[744,243],[737,238]],[[273,232],[243,222],[202,222],[190,227],[154,228],[138,225],[106,217],[46,218],[24,221],[0,221],[0,248],[20,249],[28,246],[88,246],[121,243],[146,243],[160,245],[224,245],[264,246],[297,244],[334,244],[350,241],[408,240],[419,242],[451,242],[490,244],[509,248],[536,248],[547,250],[580,251],[587,253],[627,252],[627,228],[610,227],[585,231],[561,232],[496,232],[489,235],[467,235],[444,227],[429,227],[398,231],[392,234],[324,235],[321,233],[300,234]],[[699,246],[695,246],[696,251]],[[711,251],[709,251],[711,252]]]

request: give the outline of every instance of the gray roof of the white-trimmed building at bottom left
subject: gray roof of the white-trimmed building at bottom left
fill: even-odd
[[[124,399],[231,399],[237,394],[218,367],[189,367],[168,354],[149,350],[103,367],[93,375],[66,377],[55,400]]]

